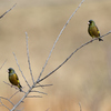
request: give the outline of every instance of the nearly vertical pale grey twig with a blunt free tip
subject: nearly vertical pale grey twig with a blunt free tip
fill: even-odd
[[[33,79],[32,70],[31,70],[30,57],[29,57],[28,33],[27,32],[26,32],[26,41],[27,41],[27,56],[28,56],[29,70],[30,70],[32,82],[34,83],[34,79]]]

